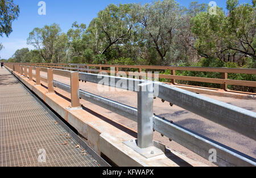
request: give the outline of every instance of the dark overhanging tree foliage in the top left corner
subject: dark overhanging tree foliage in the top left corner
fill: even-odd
[[[13,32],[12,23],[19,16],[19,6],[13,0],[0,0],[0,36]]]

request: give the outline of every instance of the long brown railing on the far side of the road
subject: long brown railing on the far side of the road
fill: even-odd
[[[256,69],[243,69],[243,68],[220,68],[220,67],[178,67],[178,66],[149,66],[149,65],[96,65],[96,64],[81,64],[81,63],[8,63],[9,67],[13,69],[14,64],[21,64],[27,66],[39,66],[39,67],[50,67],[54,69],[63,69],[63,70],[79,70],[86,71],[88,73],[99,73],[106,72],[110,73],[108,70],[110,67],[114,67],[115,74],[121,72],[119,69],[135,69],[133,73],[134,76],[142,78],[145,74],[141,73],[143,69],[146,70],[170,70],[171,75],[159,74],[159,78],[171,79],[172,84],[176,84],[175,80],[187,80],[194,82],[206,82],[206,83],[217,83],[221,84],[221,89],[227,90],[227,84],[236,85],[236,86],[247,86],[247,87],[256,87],[256,81],[247,81],[247,80],[232,80],[228,79],[228,73],[238,73],[238,74],[254,74],[256,75]],[[222,78],[203,78],[203,77],[189,77],[175,75],[176,70],[181,71],[203,71],[203,72],[213,72],[213,73],[222,73]],[[129,71],[122,71],[129,75]],[[154,77],[154,74],[152,74]]]

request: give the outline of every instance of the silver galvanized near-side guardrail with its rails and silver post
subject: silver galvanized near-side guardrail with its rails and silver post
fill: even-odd
[[[23,70],[20,69],[20,66],[15,66],[14,69],[16,69],[16,71],[18,70],[20,74],[23,72]],[[43,70],[46,71],[45,69]],[[71,76],[70,71],[61,71],[61,73],[58,72],[56,74],[65,74],[65,77],[68,77],[68,74]],[[256,166],[255,158],[251,158],[242,152],[222,145],[221,143],[213,141],[212,139],[197,134],[189,129],[183,128],[182,126],[164,118],[154,116],[152,114],[153,92],[148,89],[146,91],[142,91],[142,87],[152,84],[154,91],[158,90],[157,96],[159,98],[172,104],[176,104],[177,106],[196,113],[197,115],[203,116],[217,124],[225,126],[226,128],[235,130],[236,132],[254,139],[254,141],[256,138],[255,112],[159,82],[147,82],[146,80],[138,79],[127,80],[127,78],[90,73],[79,73],[79,75],[76,76],[77,78],[71,78],[71,86],[52,80],[53,86],[59,87],[64,91],[71,92],[72,80],[74,79],[98,83],[105,77],[106,82],[101,84],[112,87],[119,86],[119,88],[125,90],[138,92],[138,109],[82,90],[78,90],[77,95],[82,99],[99,105],[100,107],[109,109],[110,111],[125,116],[133,121],[137,121],[139,147],[145,148],[152,146],[152,132],[153,130],[156,130],[205,159],[209,158],[209,150],[215,149],[217,151],[217,162],[214,164],[217,164],[218,166]],[[126,84],[120,84],[125,80]],[[49,82],[51,82],[51,80],[48,80],[48,83]],[[129,87],[129,84],[132,85],[132,87]],[[149,94],[151,95],[150,97],[148,97]]]

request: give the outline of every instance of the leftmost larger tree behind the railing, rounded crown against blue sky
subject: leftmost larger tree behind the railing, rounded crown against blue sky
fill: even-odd
[[[34,28],[30,32],[27,44],[39,50],[44,61],[52,62],[53,56],[56,54],[54,46],[57,43],[60,32],[61,29],[56,23],[53,23],[51,26],[44,26],[43,28]]]

